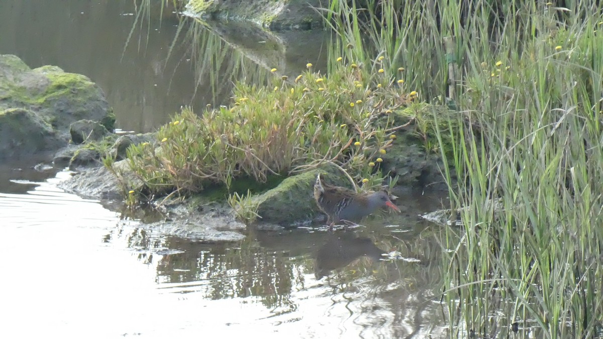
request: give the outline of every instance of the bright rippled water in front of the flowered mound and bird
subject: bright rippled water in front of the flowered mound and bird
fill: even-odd
[[[204,244],[62,192],[67,171],[4,171],[20,179],[0,185],[0,337],[445,337],[437,231],[415,217],[432,198],[348,232]]]

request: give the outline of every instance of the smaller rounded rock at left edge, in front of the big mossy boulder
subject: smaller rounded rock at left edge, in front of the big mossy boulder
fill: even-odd
[[[31,110],[0,110],[0,160],[22,159],[65,144],[52,127]]]

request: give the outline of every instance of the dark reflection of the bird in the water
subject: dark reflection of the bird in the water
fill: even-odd
[[[346,267],[361,256],[379,261],[387,253],[379,249],[369,238],[353,233],[327,235],[327,240],[315,253],[314,276],[321,279],[332,270]]]

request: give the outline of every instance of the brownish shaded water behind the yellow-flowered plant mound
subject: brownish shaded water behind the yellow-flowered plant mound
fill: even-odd
[[[271,68],[289,77],[308,62],[325,68],[324,31],[209,30],[172,9],[138,16],[137,2],[2,0],[0,54],[86,75],[106,93],[116,126],[137,132],[153,131],[182,106],[227,104],[235,81],[265,83]]]

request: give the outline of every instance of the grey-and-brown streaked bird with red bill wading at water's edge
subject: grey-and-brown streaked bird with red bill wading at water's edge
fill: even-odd
[[[320,211],[327,215],[329,231],[333,230],[333,225],[339,221],[354,224],[352,221],[360,220],[383,206],[400,212],[384,191],[357,193],[351,189],[327,185],[320,173],[314,183],[314,199]]]

